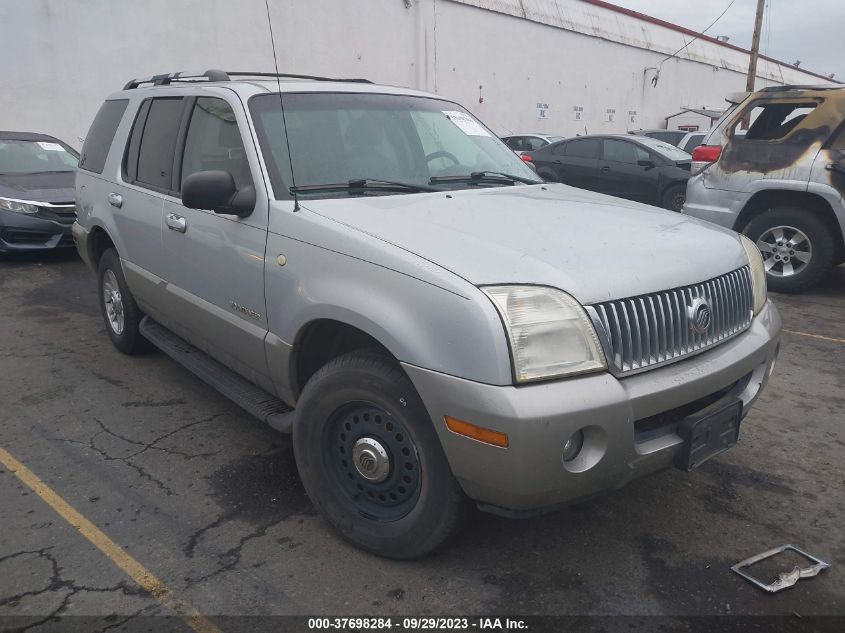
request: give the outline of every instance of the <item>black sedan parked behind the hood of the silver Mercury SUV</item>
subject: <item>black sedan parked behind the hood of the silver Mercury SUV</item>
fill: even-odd
[[[579,136],[522,159],[546,180],[680,211],[691,156],[644,136]]]

